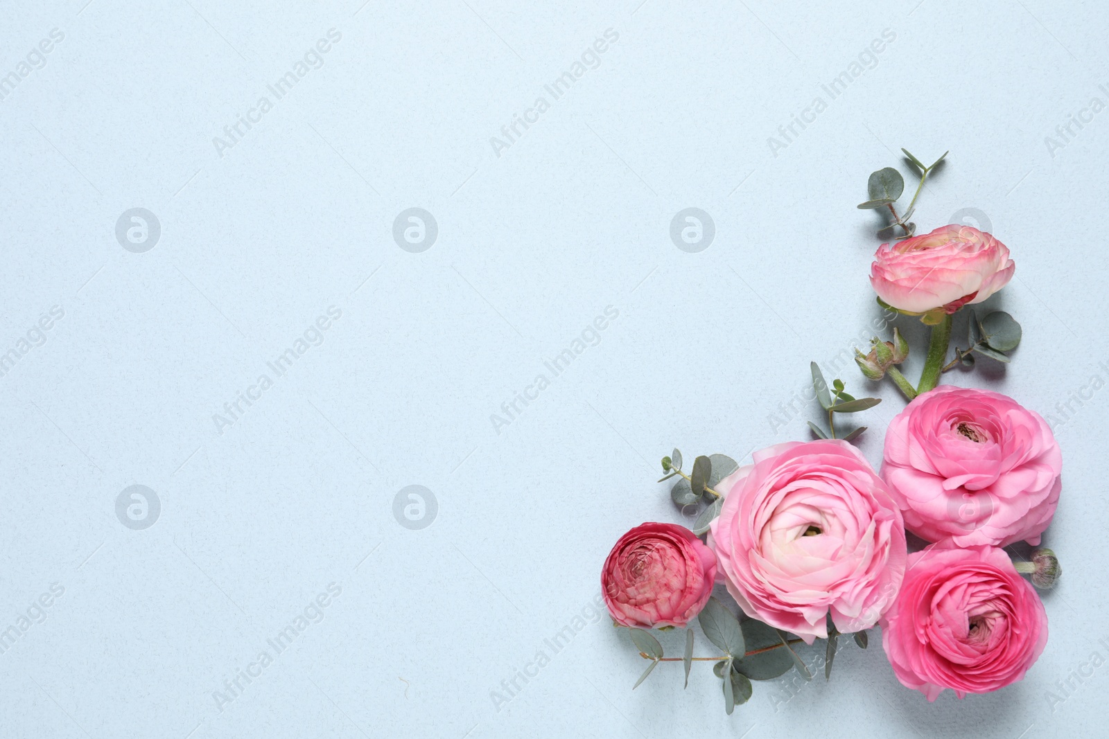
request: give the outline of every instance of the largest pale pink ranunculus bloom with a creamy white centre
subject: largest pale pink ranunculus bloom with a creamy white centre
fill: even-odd
[[[710,545],[735,602],[806,643],[877,623],[905,574],[905,528],[885,483],[842,440],[788,442],[720,481]]]

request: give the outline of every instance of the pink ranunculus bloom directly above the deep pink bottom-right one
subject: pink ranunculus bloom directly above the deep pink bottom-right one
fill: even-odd
[[[884,456],[905,526],[929,542],[1039,544],[1062,487],[1047,421],[988,390],[917,396],[889,424]]]

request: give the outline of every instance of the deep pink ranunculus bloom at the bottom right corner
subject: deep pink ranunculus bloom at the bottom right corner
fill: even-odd
[[[902,685],[935,700],[963,698],[1025,676],[1047,644],[1039,596],[994,546],[934,544],[908,556],[905,582],[882,617],[882,646]]]

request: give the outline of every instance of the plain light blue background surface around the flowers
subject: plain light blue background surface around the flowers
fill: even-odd
[[[1069,141],[1056,126],[1109,102],[1107,28],[1101,3],[1048,0],[3,3],[0,75],[64,40],[0,101],[0,353],[64,317],[0,377],[0,629],[64,593],[0,654],[0,736],[1095,736],[1109,667],[1062,704],[1047,691],[1109,657],[1109,391],[1090,389],[1109,379],[1109,112]],[[342,40],[276,101],[328,29]],[[543,85],[607,29],[553,100]],[[213,137],[266,94],[221,156]],[[490,137],[540,95],[498,156]],[[808,438],[815,408],[780,406],[879,315],[876,218],[854,206],[901,146],[952,150],[920,230],[976,208],[1017,263],[990,301],[1025,327],[1013,365],[953,379],[1060,421],[1047,650],[1018,685],[934,705],[877,632],[831,682],[756,684],[732,717],[708,664],[686,691],[663,665],[632,692],[643,660],[590,605],[601,562],[632,525],[680,520],[654,483],[673,445],[739,459]],[[161,224],[142,254],[115,238],[133,207]],[[409,207],[438,224],[421,254],[393,239]],[[699,254],[670,240],[685,207],[715,224]],[[268,372],[330,306],[322,343]],[[498,433],[490,415],[608,306],[599,342]],[[217,433],[262,373],[273,387]],[[877,392],[859,417],[875,463],[903,407]],[[141,531],[115,513],[132,484],[161,502]],[[423,530],[394,519],[409,484],[438,502]],[[576,616],[498,710],[490,691]],[[273,664],[217,708],[263,649]]]

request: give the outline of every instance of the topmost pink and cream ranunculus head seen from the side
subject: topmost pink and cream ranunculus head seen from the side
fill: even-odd
[[[883,244],[871,265],[871,285],[898,310],[953,314],[1005,287],[1016,269],[1009,249],[970,226],[940,226],[930,234]]]

